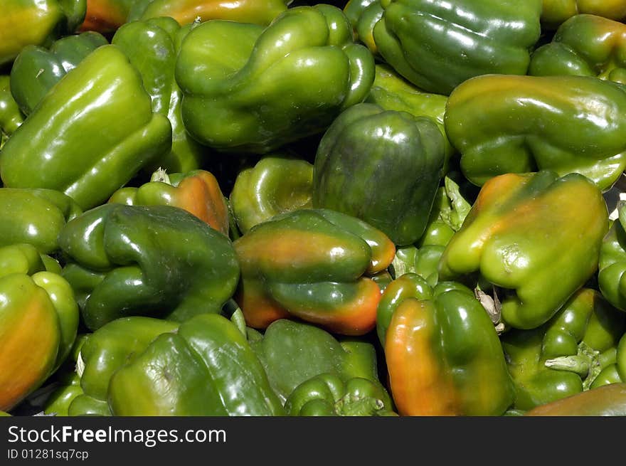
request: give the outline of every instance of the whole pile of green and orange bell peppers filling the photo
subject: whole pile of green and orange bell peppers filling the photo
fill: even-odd
[[[2,13],[0,414],[626,415],[626,0]]]

